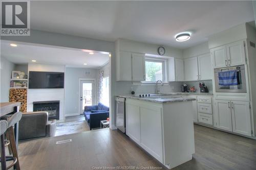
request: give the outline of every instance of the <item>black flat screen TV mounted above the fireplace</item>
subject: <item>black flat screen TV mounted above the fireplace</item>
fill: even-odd
[[[29,88],[64,88],[64,72],[29,71]]]

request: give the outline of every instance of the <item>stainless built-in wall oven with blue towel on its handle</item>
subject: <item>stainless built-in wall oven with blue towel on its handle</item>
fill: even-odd
[[[214,69],[216,92],[246,92],[245,66]]]

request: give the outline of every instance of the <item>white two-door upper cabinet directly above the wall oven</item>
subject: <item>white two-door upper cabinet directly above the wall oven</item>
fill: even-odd
[[[214,68],[245,64],[244,41],[212,48],[210,52]]]

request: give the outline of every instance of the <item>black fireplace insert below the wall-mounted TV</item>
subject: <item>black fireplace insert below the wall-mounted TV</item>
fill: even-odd
[[[47,111],[48,119],[59,119],[59,101],[33,102],[33,111]]]

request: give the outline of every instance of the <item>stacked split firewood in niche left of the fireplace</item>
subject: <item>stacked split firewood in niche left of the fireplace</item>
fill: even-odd
[[[10,89],[9,102],[20,102],[19,111],[27,112],[27,89]]]

